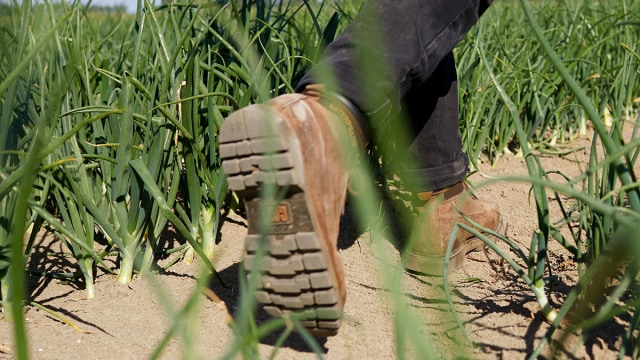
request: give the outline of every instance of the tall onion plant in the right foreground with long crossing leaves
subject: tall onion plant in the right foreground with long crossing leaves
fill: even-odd
[[[637,110],[631,110],[634,106],[633,96],[628,93],[634,91],[635,84],[629,84],[626,81],[635,79],[634,69],[640,63],[638,61],[640,58],[638,58],[634,46],[623,43],[620,46],[621,67],[610,69],[608,75],[612,78],[610,83],[599,85],[596,91],[597,96],[590,98],[588,94],[593,89],[576,81],[576,76],[582,75],[579,71],[575,71],[576,63],[583,60],[581,58],[573,60],[561,58],[549,41],[549,34],[542,30],[529,4],[525,0],[521,0],[520,3],[523,13],[533,29],[535,41],[544,51],[548,62],[553,65],[554,73],[557,73],[557,75],[547,75],[547,77],[549,79],[557,77],[561,80],[561,83],[554,86],[566,86],[571,97],[584,112],[582,118],[588,119],[596,134],[591,147],[591,160],[585,173],[577,178],[567,179],[566,184],[550,181],[546,176],[547,171],[540,166],[537,157],[530,150],[531,137],[527,136],[521,123],[523,113],[518,111],[516,102],[512,98],[513,95],[506,90],[503,80],[496,76],[491,60],[487,58],[487,52],[483,49],[483,42],[478,40],[480,62],[484,64],[494,88],[500,95],[505,111],[510,114],[509,121],[514,124],[520,151],[525,156],[529,168],[530,177],[528,178],[504,177],[502,181],[531,183],[539,225],[539,230],[534,232],[529,245],[528,256],[516,244],[499,236],[499,234],[494,234],[507,242],[509,247],[516,252],[525,264],[524,268],[495,244],[486,241],[531,286],[541,309],[552,324],[546,336],[531,354],[531,358],[536,358],[546,345],[552,343],[552,336],[558,329],[562,329],[562,335],[560,341],[553,343],[552,351],[555,355],[558,354],[556,351],[570,351],[570,349],[563,349],[562,344],[563,339],[572,336],[574,331],[588,332],[596,325],[622,313],[630,313],[634,320],[627,333],[623,335],[620,357],[625,355],[637,357],[637,339],[634,334],[638,326],[637,276],[640,260],[637,256],[638,239],[632,229],[639,225],[638,205],[640,204],[638,203],[638,185],[632,169],[637,158],[637,146],[640,142],[635,140],[636,131],[634,131],[631,142],[626,145],[621,134],[624,121],[629,118],[629,114],[633,111],[637,113]],[[628,4],[621,1],[617,5],[625,9],[625,15],[622,15],[621,18],[625,17]],[[586,5],[576,10],[573,19],[583,16],[581,10],[585,8]],[[620,26],[624,28],[630,24]],[[632,31],[628,29],[622,29],[621,33],[626,41],[629,41],[633,36],[631,35]],[[636,33],[638,32],[636,31]],[[631,73],[634,74],[631,75]],[[540,79],[536,88],[544,88],[546,86],[544,83],[544,79]],[[538,96],[537,93],[538,90],[533,96]],[[536,104],[539,103],[536,101]],[[607,123],[607,114],[611,113],[615,113],[617,116],[611,116],[613,122]],[[525,123],[530,120],[527,119],[527,116],[530,115],[525,115],[523,121]],[[636,121],[640,121],[640,118]],[[607,126],[610,128],[608,129]],[[599,144],[602,144],[602,149]],[[602,160],[603,158],[604,160]],[[570,227],[573,220],[578,220],[578,228],[570,229],[571,239],[565,239],[556,228],[556,224],[549,219],[549,205],[545,193],[547,189],[577,200],[577,205],[572,209],[564,209],[565,219],[560,223]],[[468,231],[472,230],[464,225],[461,226]],[[547,270],[553,271],[546,262],[548,257],[547,243],[552,239],[558,240],[574,255],[574,259],[579,262],[581,269],[586,266],[586,271],[580,272],[579,283],[560,309],[554,309],[549,303],[544,283],[545,276],[550,275]],[[623,297],[627,303],[622,306],[618,305]],[[589,310],[591,306],[595,307],[595,312]],[[561,323],[569,325],[561,327]]]

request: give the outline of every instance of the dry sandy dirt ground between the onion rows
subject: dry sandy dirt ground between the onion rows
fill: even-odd
[[[577,149],[566,157],[545,156],[547,170],[562,170],[575,176],[588,157],[589,138],[572,142]],[[576,161],[578,160],[578,161]],[[582,165],[581,165],[582,164]],[[505,154],[495,166],[480,164],[479,172],[470,180],[480,184],[486,179],[522,174],[527,170],[522,157]],[[529,186],[499,182],[480,188],[477,193],[496,200],[506,222],[506,236],[526,247],[530,243],[537,219],[529,199]],[[337,336],[319,340],[327,359],[393,359],[396,357],[393,332],[394,308],[387,283],[380,269],[398,269],[398,250],[390,242],[358,234],[349,226],[349,211],[340,238],[340,254],[346,268],[347,304],[343,328]],[[557,208],[552,219],[560,217]],[[222,229],[215,266],[230,287],[213,281],[210,289],[237,315],[238,269],[246,227],[244,220],[233,216]],[[36,245],[42,255],[66,251],[59,242],[46,238]],[[388,255],[389,254],[389,255]],[[568,289],[577,279],[576,266],[566,251],[554,243],[552,266],[558,275],[551,299],[559,307]],[[433,344],[432,358],[523,359],[539,343],[548,324],[538,312],[533,293],[513,270],[499,262],[488,261],[495,254],[478,255],[450,278],[455,307],[473,347],[465,345],[461,332],[453,322],[445,297],[442,278],[405,273],[402,286],[406,310],[424,324],[420,334],[425,344]],[[64,257],[49,257],[31,263],[33,269],[71,270]],[[85,299],[81,283],[63,283],[44,277],[30,279],[30,301],[36,302],[68,318],[80,330],[57,320],[34,306],[26,308],[29,349],[32,359],[146,359],[168,331],[178,307],[192,294],[200,267],[178,263],[168,272],[154,278],[136,277],[128,285],[119,284],[115,276],[99,272],[96,297]],[[195,347],[204,359],[219,359],[229,348],[233,333],[227,325],[225,306],[199,297],[197,317],[187,319],[191,325],[191,344],[180,337],[170,340],[162,359],[179,359],[183,346]],[[167,307],[167,304],[169,306]],[[263,315],[258,314],[260,319]],[[614,321],[587,339],[586,346],[572,351],[575,359],[612,359],[617,355],[619,338],[625,330],[623,320]],[[0,359],[14,356],[12,326],[0,322]],[[276,336],[260,344],[261,358],[270,356]],[[409,357],[411,357],[409,352]],[[316,355],[294,334],[284,342],[277,359],[307,359]]]

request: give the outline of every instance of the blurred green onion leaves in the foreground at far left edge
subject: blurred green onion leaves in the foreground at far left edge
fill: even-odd
[[[36,21],[43,25],[47,23],[45,13],[33,13],[30,4],[22,6],[20,20],[12,20],[14,25],[20,20],[27,24]],[[68,69],[67,76],[55,79],[41,70],[44,62],[37,57],[38,51],[54,38],[57,26],[14,29],[17,31],[12,32],[12,41],[6,38],[2,41],[3,50],[15,50],[8,52],[15,56],[10,59],[3,56],[3,64],[14,66],[3,66],[3,80],[0,82],[3,99],[0,125],[4,129],[0,135],[0,203],[4,205],[0,210],[0,252],[3,257],[0,291],[4,316],[14,323],[16,355],[24,359],[27,346],[22,308],[27,292],[25,253],[29,253],[29,246],[24,244],[25,233],[29,228],[32,234],[37,232],[41,224],[30,205],[32,202],[41,204],[42,197],[47,196],[49,185],[38,178],[38,174],[41,162],[49,155],[45,145],[51,136],[50,127],[61,110],[63,94],[75,70]],[[37,33],[31,33],[31,30]],[[25,65],[30,61],[40,68]],[[28,79],[26,84],[17,81],[21,76]],[[41,87],[31,87],[31,82]],[[47,97],[49,91],[51,96]]]

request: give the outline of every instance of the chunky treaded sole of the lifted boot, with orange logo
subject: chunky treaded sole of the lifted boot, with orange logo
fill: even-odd
[[[271,316],[294,314],[313,335],[335,335],[343,304],[332,250],[308,210],[297,137],[268,107],[253,105],[225,120],[220,143],[229,188],[245,201],[244,268],[260,275],[256,299]],[[261,198],[265,190],[278,200]]]

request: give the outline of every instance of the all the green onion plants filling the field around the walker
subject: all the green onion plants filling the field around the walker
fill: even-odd
[[[99,291],[93,286],[97,269],[126,283],[136,271],[157,270],[159,258],[169,257],[164,266],[170,266],[197,254],[207,271],[184,308],[167,307],[173,325],[154,356],[172,336],[188,344],[190,331],[180,319],[197,310],[206,277],[215,274],[211,259],[224,214],[238,205],[217,156],[224,118],[293,91],[361,3],[218,0],[154,8],[138,0],[135,16],[103,16],[79,1],[45,1],[22,2],[0,15],[0,296],[5,319],[15,320],[19,358],[26,357],[25,256],[42,227],[69,249],[77,272],[65,276],[81,278],[88,298]],[[620,135],[623,120],[640,121],[638,14],[638,2],[631,0],[565,0],[536,3],[534,10],[525,0],[505,0],[495,2],[455,49],[470,158],[484,152],[498,161],[504,151],[519,151],[529,169],[527,177],[500,180],[532,185],[538,230],[529,246],[493,234],[511,255],[479,235],[530,287],[551,322],[532,356],[553,336],[592,329],[623,312],[631,320],[620,354],[638,356],[640,265],[628,255],[638,251],[639,239],[629,229],[640,221],[631,170],[640,140],[634,135],[624,143]],[[525,22],[531,28],[515,26]],[[380,75],[372,72],[369,80]],[[548,174],[556,169],[542,168],[536,154],[556,152],[559,142],[584,134],[587,126],[596,131],[588,168],[564,183],[551,181]],[[396,189],[378,161],[386,165],[406,139],[402,126],[393,130],[374,149],[374,169],[364,161],[353,165],[355,179],[373,180],[359,184],[368,196],[354,203],[360,222],[379,235],[372,245],[380,254],[386,253],[376,240],[390,238],[394,224],[373,209]],[[387,187],[384,195],[371,186],[376,181]],[[547,190],[576,200],[560,224],[548,217]],[[161,235],[169,225],[184,242],[167,249]],[[571,226],[569,237],[560,232],[563,225]],[[580,281],[562,306],[547,298],[550,241],[559,241],[580,266]],[[617,263],[625,266],[611,265]],[[408,356],[410,347],[429,357],[433,349],[414,331],[422,324],[402,296],[401,267],[382,275],[398,309],[397,356]],[[320,352],[295,316],[256,326],[250,296],[255,279],[242,279],[229,358],[255,357],[257,342],[283,327],[278,344],[296,329]],[[594,298],[593,289],[604,291],[611,279],[607,297]],[[585,310],[590,302],[598,305],[595,312]],[[570,326],[562,327],[563,320]]]

